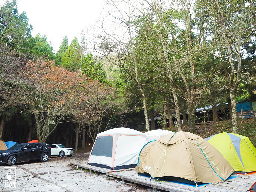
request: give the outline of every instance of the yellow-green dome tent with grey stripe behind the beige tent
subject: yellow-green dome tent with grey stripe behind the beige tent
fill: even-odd
[[[248,137],[219,133],[206,138],[237,172],[256,171],[256,149]]]

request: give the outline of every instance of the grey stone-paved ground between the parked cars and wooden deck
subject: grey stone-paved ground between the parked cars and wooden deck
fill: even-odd
[[[0,192],[145,192],[146,190],[131,185],[109,180],[101,174],[89,174],[68,166],[69,162],[84,162],[87,154],[75,154],[72,157],[53,157],[42,163],[38,161],[20,162],[14,166],[17,172],[16,189],[3,188],[3,168],[0,165]]]

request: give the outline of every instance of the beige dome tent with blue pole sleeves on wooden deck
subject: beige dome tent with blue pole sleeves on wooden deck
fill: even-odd
[[[234,169],[210,143],[189,132],[174,132],[147,143],[139,154],[137,173],[185,183],[226,180]]]

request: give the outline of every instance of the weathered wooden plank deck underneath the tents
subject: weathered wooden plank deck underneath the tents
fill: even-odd
[[[129,181],[147,187],[152,187],[155,190],[160,189],[170,192],[246,192],[256,182],[256,174],[239,175],[238,177],[231,178],[225,182],[205,184],[199,187],[195,187],[191,185],[163,180],[161,178],[157,181],[155,181],[156,179],[151,179],[150,181],[149,177],[138,175],[134,171],[134,169],[113,171],[109,169],[87,165],[86,163],[71,164],[92,171],[105,173],[110,177],[119,178],[122,181]]]

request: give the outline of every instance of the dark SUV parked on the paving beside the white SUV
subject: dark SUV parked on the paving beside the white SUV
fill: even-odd
[[[51,149],[45,143],[21,143],[0,151],[0,164],[14,165],[19,161],[40,159],[45,162],[51,157]]]

